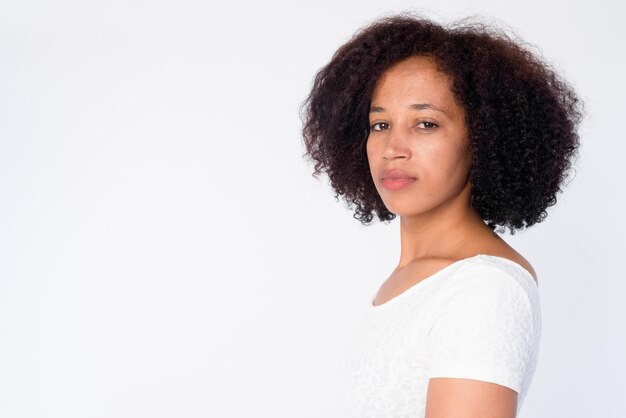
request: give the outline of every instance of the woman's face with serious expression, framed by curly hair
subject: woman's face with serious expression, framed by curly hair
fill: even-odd
[[[395,64],[374,87],[367,157],[392,213],[428,213],[470,187],[465,111],[450,87],[449,76],[423,56]]]

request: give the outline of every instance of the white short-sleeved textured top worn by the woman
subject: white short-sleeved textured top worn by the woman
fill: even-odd
[[[538,285],[521,265],[478,254],[378,306],[370,300],[340,358],[347,417],[423,418],[431,377],[507,386],[519,412],[537,365]]]

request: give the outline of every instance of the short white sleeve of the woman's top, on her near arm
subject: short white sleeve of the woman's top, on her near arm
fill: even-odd
[[[525,288],[503,269],[476,265],[442,291],[426,336],[428,378],[481,380],[519,393],[534,347]]]

